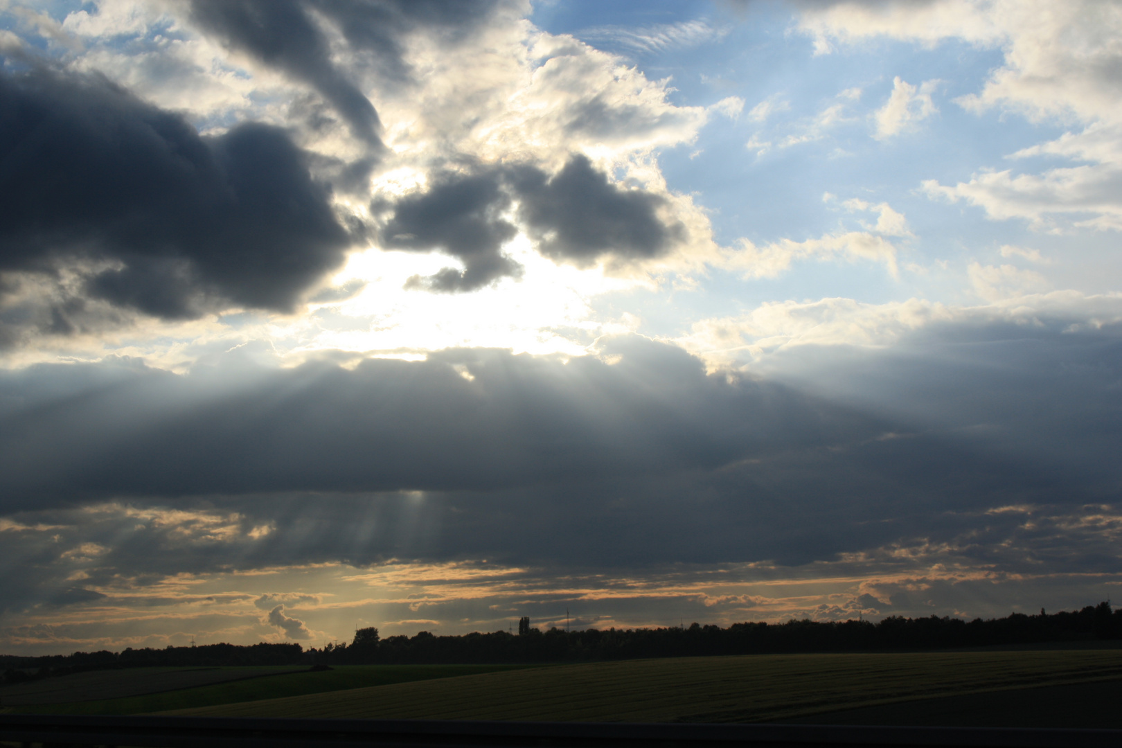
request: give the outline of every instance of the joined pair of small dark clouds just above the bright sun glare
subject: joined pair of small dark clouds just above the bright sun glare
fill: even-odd
[[[659,216],[665,198],[614,185],[587,157],[574,155],[552,177],[528,165],[438,174],[426,192],[393,205],[381,246],[438,249],[463,261],[462,271],[445,268],[431,278],[412,278],[412,287],[475,290],[521,273],[502,251],[517,233],[505,215],[514,201],[537,249],[555,261],[587,266],[604,257],[651,259],[686,238],[681,223]],[[375,212],[383,207],[371,206]]]

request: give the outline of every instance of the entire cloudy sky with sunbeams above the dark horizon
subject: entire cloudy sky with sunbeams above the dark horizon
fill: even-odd
[[[0,652],[1122,598],[1120,39],[0,0]]]

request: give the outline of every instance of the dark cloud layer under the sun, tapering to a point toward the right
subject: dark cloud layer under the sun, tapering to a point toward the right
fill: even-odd
[[[0,495],[26,508],[48,496],[494,490],[712,469],[839,431],[879,433],[781,387],[707,376],[673,347],[615,345],[615,366],[460,350],[353,371],[6,373],[0,396],[17,405],[0,433]],[[72,396],[38,395],[58,391],[46,382],[59,376]]]

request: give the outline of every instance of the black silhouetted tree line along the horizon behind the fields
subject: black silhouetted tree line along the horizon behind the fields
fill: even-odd
[[[46,657],[0,656],[4,680],[112,667],[219,666],[219,665],[357,665],[357,664],[475,664],[544,663],[564,661],[634,659],[641,657],[691,657],[798,652],[891,652],[1122,639],[1122,610],[1110,603],[1087,606],[1072,612],[1038,616],[1012,613],[1005,618],[966,621],[931,616],[890,616],[870,621],[819,622],[808,619],[784,624],[745,622],[728,628],[700,626],[654,629],[585,629],[541,631],[519,621],[519,634],[466,634],[434,636],[378,636],[378,629],[355,632],[350,645],[329,644],[303,649],[298,644],[212,644],[166,649],[126,649],[121,653],[76,652]],[[42,674],[42,675],[40,675]]]

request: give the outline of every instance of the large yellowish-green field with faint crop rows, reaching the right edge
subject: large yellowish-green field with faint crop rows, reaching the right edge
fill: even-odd
[[[486,673],[177,713],[775,722],[937,696],[1120,678],[1122,650],[749,655]]]

